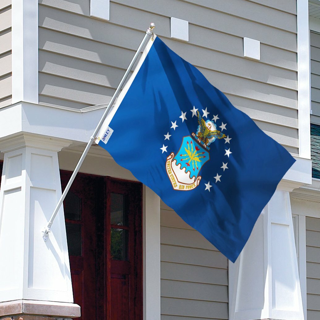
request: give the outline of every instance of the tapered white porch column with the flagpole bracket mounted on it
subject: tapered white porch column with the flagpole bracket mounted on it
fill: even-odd
[[[69,144],[69,140],[25,133],[0,141],[0,150],[4,152],[0,302],[73,302],[63,207],[47,242],[41,233],[61,195],[58,151]],[[43,312],[50,314],[50,308],[46,310],[44,305],[41,304]],[[75,306],[80,309],[70,303],[65,306],[73,307],[72,312]],[[0,317],[3,314],[0,312]]]

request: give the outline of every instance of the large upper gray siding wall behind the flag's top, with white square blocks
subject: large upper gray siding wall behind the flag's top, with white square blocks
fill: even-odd
[[[170,17],[189,21],[189,42],[170,38]],[[296,1],[39,1],[39,101],[74,108],[110,100],[149,22],[258,126],[298,154]],[[243,57],[243,37],[261,59]]]

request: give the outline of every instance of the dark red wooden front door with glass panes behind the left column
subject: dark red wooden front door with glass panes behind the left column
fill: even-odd
[[[140,183],[77,175],[64,211],[78,319],[142,320],[141,201]]]

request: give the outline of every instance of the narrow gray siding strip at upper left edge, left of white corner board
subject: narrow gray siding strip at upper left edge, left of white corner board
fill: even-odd
[[[0,2],[0,107],[11,104],[11,0]]]

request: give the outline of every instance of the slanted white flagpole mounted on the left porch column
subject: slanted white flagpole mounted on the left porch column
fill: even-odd
[[[67,195],[67,193],[68,193],[68,191],[69,191],[69,189],[71,187],[71,184],[72,184],[73,180],[75,180],[76,174],[78,173],[78,171],[79,171],[79,169],[80,169],[80,167],[81,167],[81,165],[82,165],[82,163],[84,161],[84,158],[88,154],[89,149],[92,146],[93,141],[96,139],[96,135],[99,132],[102,123],[104,122],[106,116],[108,115],[108,113],[109,113],[114,101],[116,100],[117,95],[119,94],[119,92],[120,92],[120,90],[121,90],[121,88],[122,88],[127,76],[129,75],[134,63],[138,59],[140,52],[142,51],[142,49],[145,46],[145,44],[150,40],[151,36],[153,35],[152,31],[153,31],[154,28],[155,28],[155,24],[154,23],[150,23],[150,27],[146,31],[146,35],[144,36],[144,38],[143,38],[138,50],[136,51],[135,55],[133,56],[133,58],[132,58],[132,60],[131,60],[131,62],[129,64],[129,67],[127,68],[123,78],[121,79],[118,87],[116,88],[116,91],[113,94],[113,96],[112,96],[112,98],[111,98],[111,100],[110,100],[110,102],[108,104],[108,107],[106,108],[105,112],[103,113],[103,115],[102,115],[97,127],[95,128],[94,132],[92,133],[92,136],[90,137],[90,140],[89,140],[87,146],[85,147],[84,152],[83,152],[82,156],[80,157],[80,159],[79,159],[79,161],[78,161],[78,163],[76,165],[76,168],[75,168],[74,172],[72,173],[72,175],[70,177],[70,180],[69,180],[66,188],[64,189],[64,191],[63,191],[63,193],[62,193],[62,195],[61,195],[61,197],[60,197],[60,199],[59,199],[59,201],[57,203],[57,205],[56,205],[56,207],[55,207],[55,209],[54,209],[54,211],[52,213],[52,216],[51,216],[50,220],[48,221],[46,227],[44,227],[44,229],[42,231],[42,237],[43,237],[44,241],[47,241],[48,236],[49,236],[49,232],[51,232],[50,228],[52,226],[53,220],[56,217],[56,215],[57,215],[57,213],[58,213],[58,211],[59,211],[59,209],[61,207],[61,204],[63,203],[63,200],[65,199],[65,197],[66,197],[66,195]]]

